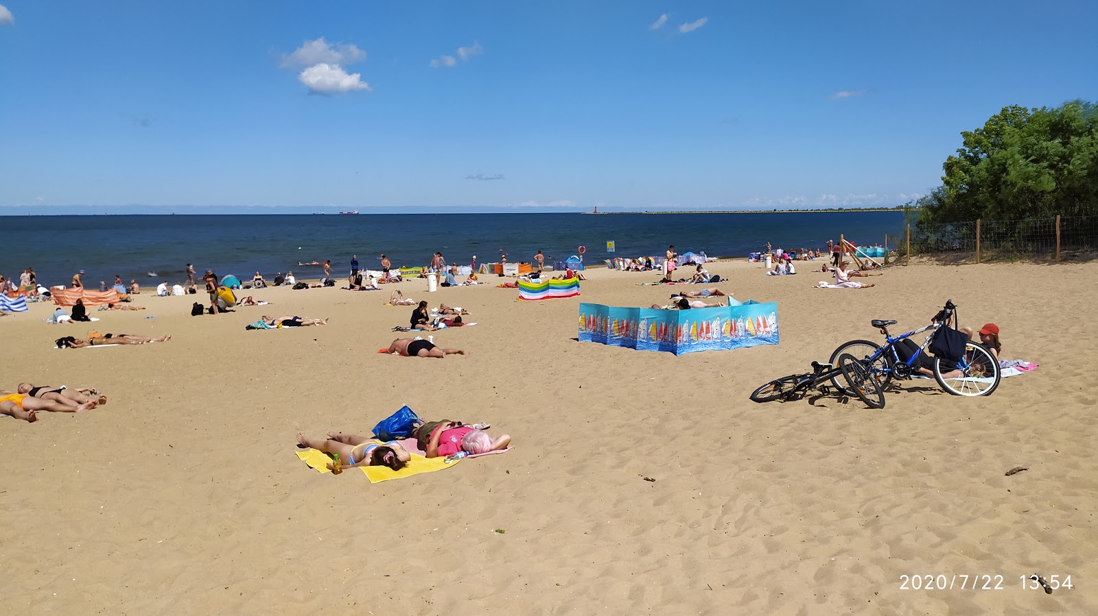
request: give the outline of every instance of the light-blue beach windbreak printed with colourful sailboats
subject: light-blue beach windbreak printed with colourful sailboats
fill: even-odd
[[[751,299],[693,310],[580,304],[580,341],[675,355],[777,344],[777,304]]]

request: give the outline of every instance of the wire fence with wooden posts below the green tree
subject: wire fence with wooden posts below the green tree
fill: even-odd
[[[892,243],[892,242],[889,242]],[[895,256],[949,262],[1073,262],[1098,258],[1098,216],[1024,220],[911,223],[897,233]]]

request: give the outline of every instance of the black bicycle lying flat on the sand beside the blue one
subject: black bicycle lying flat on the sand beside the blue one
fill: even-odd
[[[810,391],[828,395],[831,392],[831,384],[837,381],[841,375],[847,381],[847,387],[839,387],[840,392],[856,396],[871,409],[885,408],[885,393],[881,389],[881,384],[863,361],[844,353],[838,357],[838,364],[836,367],[834,363],[813,362],[811,373],[775,378],[755,389],[751,393],[751,400],[754,402],[772,402],[774,400],[787,402],[799,400]]]

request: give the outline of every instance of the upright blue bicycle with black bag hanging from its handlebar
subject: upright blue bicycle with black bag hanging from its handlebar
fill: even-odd
[[[919,374],[930,376],[927,374],[930,373],[942,389],[954,396],[989,396],[999,386],[1002,375],[999,370],[999,362],[987,349],[972,341],[966,341],[963,352],[959,350],[952,358],[932,356],[927,351],[927,345],[931,344],[935,335],[945,335],[941,330],[949,327],[955,312],[956,305],[946,300],[945,307],[934,316],[929,326],[895,336],[888,334],[888,326],[895,324],[897,321],[873,319],[870,324],[881,330],[881,333],[885,335],[884,346],[869,340],[852,340],[834,350],[834,353],[831,354],[831,363],[837,364],[843,354],[859,358],[877,380],[882,390],[888,386],[893,378],[906,379]],[[930,335],[921,345],[916,345],[915,342],[908,340],[925,331],[930,331]],[[952,335],[956,335],[956,333]],[[858,393],[843,387],[844,384],[840,383],[839,379],[832,379],[831,384],[848,396]]]

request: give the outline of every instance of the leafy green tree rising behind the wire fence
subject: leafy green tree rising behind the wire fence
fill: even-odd
[[[942,186],[919,199],[920,221],[1098,214],[1096,128],[1094,103],[1004,107],[961,133],[963,147],[942,166]]]

